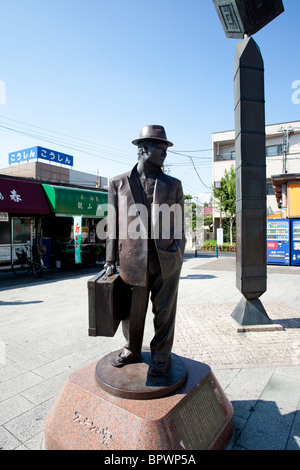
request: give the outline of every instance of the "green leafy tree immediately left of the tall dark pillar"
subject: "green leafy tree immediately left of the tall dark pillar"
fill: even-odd
[[[235,219],[235,170],[232,166],[229,171],[225,170],[221,179],[221,187],[213,187],[213,196],[217,207],[230,221],[230,244],[233,242],[233,223]]]

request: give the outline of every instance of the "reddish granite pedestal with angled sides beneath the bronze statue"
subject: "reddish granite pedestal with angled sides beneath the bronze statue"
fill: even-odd
[[[186,358],[179,358],[180,361],[186,368],[184,379],[180,379],[182,384],[178,382],[179,388],[159,398],[123,398],[104,390],[101,373],[99,379],[99,361],[74,372],[45,421],[44,448],[182,451],[226,448],[233,434],[231,403],[208,365]],[[133,370],[135,366],[130,364],[122,369],[127,368],[130,375],[129,368]],[[145,390],[147,367],[142,366],[142,370],[146,374]],[[161,387],[152,382],[149,388],[155,393]],[[136,385],[134,389],[136,392]]]

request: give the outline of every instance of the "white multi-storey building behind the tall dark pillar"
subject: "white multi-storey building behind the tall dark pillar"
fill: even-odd
[[[212,134],[212,160],[213,185],[219,187],[225,170],[235,168],[234,130]],[[285,173],[300,173],[300,121],[266,126],[267,216],[278,212],[271,177]],[[216,233],[219,211],[214,209],[213,218]]]

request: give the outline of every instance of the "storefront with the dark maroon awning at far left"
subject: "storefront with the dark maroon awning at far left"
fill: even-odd
[[[39,183],[0,177],[0,269],[11,266],[16,250],[31,252],[47,214],[50,208]]]

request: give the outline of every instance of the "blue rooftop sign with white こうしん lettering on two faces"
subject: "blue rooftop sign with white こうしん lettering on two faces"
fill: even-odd
[[[49,150],[45,147],[31,147],[24,150],[18,150],[17,152],[11,152],[8,154],[8,163],[25,162],[36,158],[48,160],[49,162],[61,163],[62,165],[73,166],[72,155],[57,152],[56,150]]]

